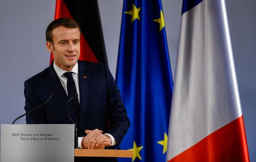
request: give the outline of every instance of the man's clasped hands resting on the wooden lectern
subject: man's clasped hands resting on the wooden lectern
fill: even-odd
[[[102,134],[103,131],[95,130],[86,130],[86,137],[82,138],[81,147],[83,149],[104,149],[105,146],[111,144],[111,138],[107,135]]]

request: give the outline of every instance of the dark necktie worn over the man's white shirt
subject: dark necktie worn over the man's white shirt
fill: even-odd
[[[68,94],[69,98],[73,97],[74,93],[77,93],[72,73],[73,72],[66,72],[66,73],[63,74],[63,75],[65,75],[67,77],[67,94]],[[73,100],[71,100],[71,103],[72,103],[75,115],[76,115],[76,117],[78,118],[78,121],[79,121],[79,108],[80,108],[80,105],[79,105],[79,102],[78,102],[78,98],[76,97]]]

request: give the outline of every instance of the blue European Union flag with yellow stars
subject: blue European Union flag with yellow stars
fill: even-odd
[[[116,83],[131,122],[120,148],[165,162],[173,83],[161,0],[124,0]]]

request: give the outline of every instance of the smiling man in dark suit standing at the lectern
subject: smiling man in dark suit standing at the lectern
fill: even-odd
[[[72,124],[78,126],[78,145],[85,149],[104,149],[121,143],[128,131],[129,119],[109,69],[100,63],[79,61],[79,25],[71,19],[54,20],[47,27],[46,46],[53,53],[50,67],[25,81],[26,112],[44,103],[50,92],[54,96],[42,108],[26,117],[27,124]],[[72,82],[72,83],[71,83]],[[73,88],[70,85],[73,85]]]

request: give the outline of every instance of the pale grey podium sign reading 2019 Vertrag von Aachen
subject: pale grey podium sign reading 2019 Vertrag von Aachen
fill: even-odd
[[[74,162],[74,125],[1,125],[1,162]]]

